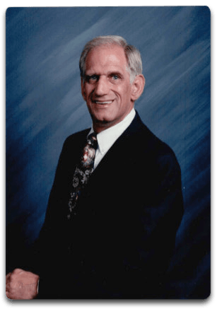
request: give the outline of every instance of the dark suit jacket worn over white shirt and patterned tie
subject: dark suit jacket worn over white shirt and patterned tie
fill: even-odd
[[[72,177],[89,130],[69,136],[61,151],[32,267],[40,297],[157,298],[182,218],[180,166],[136,112],[69,221]]]

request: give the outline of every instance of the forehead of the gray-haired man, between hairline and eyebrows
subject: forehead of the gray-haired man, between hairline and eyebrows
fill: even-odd
[[[86,58],[86,72],[100,70],[127,71],[124,49],[119,45],[102,45],[92,49]]]

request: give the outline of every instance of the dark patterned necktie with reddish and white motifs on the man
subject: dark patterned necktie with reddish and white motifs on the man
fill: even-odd
[[[95,152],[98,148],[98,141],[96,134],[92,133],[88,136],[86,146],[83,148],[83,155],[81,157],[81,163],[76,166],[74,172],[73,181],[72,181],[72,192],[70,193],[69,198],[69,215],[68,219],[71,219],[72,211],[76,207],[78,197],[81,194],[83,187],[88,182],[88,178],[93,172],[93,165],[95,160]],[[74,213],[75,215],[76,213]]]

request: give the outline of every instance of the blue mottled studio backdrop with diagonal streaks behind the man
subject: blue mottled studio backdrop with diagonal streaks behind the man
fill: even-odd
[[[6,223],[8,252],[37,237],[66,136],[91,124],[78,60],[97,35],[141,51],[143,122],[175,151],[184,217],[170,293],[210,289],[211,11],[208,6],[12,7],[6,11]],[[14,254],[13,254],[14,253]]]

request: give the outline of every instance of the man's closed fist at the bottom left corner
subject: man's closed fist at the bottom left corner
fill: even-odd
[[[6,275],[6,296],[9,299],[33,299],[37,296],[39,276],[30,271],[14,269]]]

